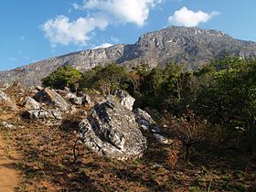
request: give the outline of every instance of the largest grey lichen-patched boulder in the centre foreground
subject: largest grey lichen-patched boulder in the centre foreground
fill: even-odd
[[[80,140],[92,151],[120,160],[139,157],[146,149],[133,112],[113,97],[95,105],[89,117],[80,122]]]

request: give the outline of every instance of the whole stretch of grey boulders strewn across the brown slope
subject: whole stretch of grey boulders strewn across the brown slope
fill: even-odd
[[[138,158],[144,155],[149,138],[151,142],[155,138],[156,144],[172,144],[149,113],[133,110],[134,99],[126,91],[118,90],[106,98],[100,93],[89,96],[39,86],[33,90],[10,87],[5,92],[0,91],[4,116],[12,113],[10,117],[16,115],[20,124],[38,123],[72,133],[74,143],[84,144],[98,155],[119,160]],[[16,106],[16,114],[10,106]],[[3,126],[15,127],[8,122]]]

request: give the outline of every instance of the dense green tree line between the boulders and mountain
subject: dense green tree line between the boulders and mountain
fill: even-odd
[[[213,133],[219,127],[223,139],[246,139],[248,150],[255,146],[256,59],[226,57],[196,71],[172,63],[165,69],[150,69],[143,63],[131,71],[108,64],[84,73],[66,66],[42,82],[56,89],[94,89],[105,95],[121,88],[130,92],[139,107],[177,117],[193,111],[198,119],[212,124]]]

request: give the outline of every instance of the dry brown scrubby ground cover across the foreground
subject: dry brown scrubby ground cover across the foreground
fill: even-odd
[[[16,101],[20,99],[17,95]],[[0,124],[8,121],[15,128],[2,126],[1,133],[8,135],[11,149],[22,155],[18,191],[256,190],[255,155],[198,143],[191,147],[186,163],[184,146],[169,116],[162,121],[163,133],[173,144],[158,144],[151,133],[145,133],[148,149],[144,156],[126,162],[95,155],[80,145],[80,156],[73,164],[73,131],[78,128],[79,116],[50,125],[24,121],[18,114],[5,115]]]

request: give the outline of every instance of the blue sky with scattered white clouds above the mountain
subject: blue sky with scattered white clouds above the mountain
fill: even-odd
[[[256,41],[255,0],[3,0],[0,70],[72,51],[134,43],[168,26]]]

